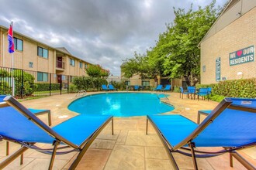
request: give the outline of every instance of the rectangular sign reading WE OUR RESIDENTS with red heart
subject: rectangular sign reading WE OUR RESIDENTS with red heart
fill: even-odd
[[[230,66],[254,61],[254,46],[230,53]]]

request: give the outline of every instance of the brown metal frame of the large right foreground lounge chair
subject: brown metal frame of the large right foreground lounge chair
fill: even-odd
[[[195,129],[195,131],[190,134],[187,138],[185,138],[183,141],[181,141],[178,145],[175,145],[175,147],[172,147],[171,144],[164,138],[164,135],[161,134],[161,131],[159,128],[157,128],[157,125],[154,124],[154,121],[151,120],[149,116],[147,116],[147,124],[146,124],[146,134],[148,131],[148,121],[150,121],[150,124],[152,124],[155,131],[157,131],[158,137],[161,139],[161,142],[164,145],[165,150],[168,152],[168,157],[171,160],[172,168],[179,169],[177,163],[175,162],[175,158],[172,155],[173,152],[178,152],[183,155],[191,156],[192,162],[195,169],[198,169],[196,158],[209,158],[213,156],[217,156],[226,152],[230,153],[230,166],[233,167],[233,157],[237,159],[238,162],[240,162],[242,165],[244,165],[247,169],[255,169],[254,165],[251,165],[250,162],[247,162],[242,156],[240,156],[236,150],[244,149],[244,148],[251,148],[255,146],[255,143],[244,145],[237,148],[224,148],[225,151],[216,151],[216,152],[208,152],[208,151],[195,151],[195,144],[192,142],[192,139],[196,138],[199,133],[201,133],[209,124],[211,124],[216,117],[218,117],[223,110],[226,108],[233,109],[233,110],[244,110],[249,111],[252,113],[256,113],[256,110],[251,107],[240,107],[239,105],[232,104],[232,100],[229,98],[225,98],[220,104],[217,105],[217,107],[211,112],[214,114],[209,114],[204,121],[202,121],[201,124],[199,124],[199,127]],[[189,148],[184,148],[184,145],[189,145]],[[187,151],[191,151],[191,154],[188,154],[184,151],[181,151],[181,149],[185,149]],[[196,155],[195,153],[199,152],[200,154],[206,154],[206,155]]]

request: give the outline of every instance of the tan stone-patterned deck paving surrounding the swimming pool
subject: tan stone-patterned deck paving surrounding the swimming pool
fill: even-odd
[[[87,93],[87,95],[89,94],[93,93]],[[185,96],[184,99],[180,99],[179,93],[168,94],[170,94],[169,100],[163,99],[163,101],[175,107],[175,110],[170,113],[182,114],[195,122],[198,110],[211,110],[218,104],[214,101],[190,100]],[[74,93],[63,94],[24,100],[22,104],[37,109],[50,109],[54,126],[77,115],[67,110],[68,104],[77,98]],[[47,124],[47,114],[39,117]],[[201,119],[203,118],[204,116],[201,117]],[[115,117],[114,135],[111,134],[111,124],[109,124],[92,143],[77,169],[171,169],[171,162],[156,132],[151,126],[148,135],[145,134],[145,130],[146,117]],[[12,154],[18,148],[19,145],[11,144],[10,153]],[[57,155],[54,169],[67,169],[76,154]],[[255,147],[240,151],[240,154],[244,155],[253,165],[256,165]],[[179,154],[174,155],[179,168],[193,169],[192,158]],[[5,141],[0,141],[0,161],[2,162],[5,158]],[[235,159],[234,168],[230,168],[228,154],[197,160],[199,169],[245,169]],[[17,158],[5,169],[47,169],[49,162],[50,155],[29,149],[24,153],[23,165],[19,165],[19,158]]]

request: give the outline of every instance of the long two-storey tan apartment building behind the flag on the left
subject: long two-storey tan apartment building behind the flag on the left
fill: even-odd
[[[13,32],[15,53],[12,66],[12,54],[8,52],[8,29],[0,26],[0,67],[35,71],[38,83],[60,83],[67,81],[67,76],[70,79],[72,76],[87,76],[85,68],[91,63],[73,56],[64,47],[55,48],[19,32]]]

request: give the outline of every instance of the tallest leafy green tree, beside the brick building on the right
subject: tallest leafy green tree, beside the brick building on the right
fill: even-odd
[[[150,65],[157,68],[158,73],[163,72],[170,78],[183,76],[189,86],[199,82],[198,45],[220,14],[220,7],[214,8],[215,3],[199,7],[197,11],[192,11],[192,5],[188,12],[174,8],[174,22],[167,25],[167,31],[159,35],[156,46],[147,53]]]

